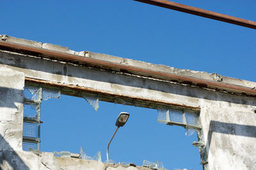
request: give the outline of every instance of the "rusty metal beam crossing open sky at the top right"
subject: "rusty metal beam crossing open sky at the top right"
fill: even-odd
[[[134,1],[139,1],[141,3],[147,3],[147,4],[153,4],[156,6],[161,6],[163,8],[168,8],[168,9],[176,10],[179,12],[190,13],[190,14],[197,15],[200,17],[205,17],[208,19],[220,20],[222,22],[227,22],[230,24],[235,24],[238,26],[250,27],[252,29],[256,29],[256,22],[253,22],[251,20],[239,19],[237,17],[232,17],[229,15],[225,15],[225,14],[221,14],[221,13],[217,13],[217,12],[203,10],[200,8],[195,8],[193,6],[174,3],[172,1],[166,1],[166,0],[134,0]]]

